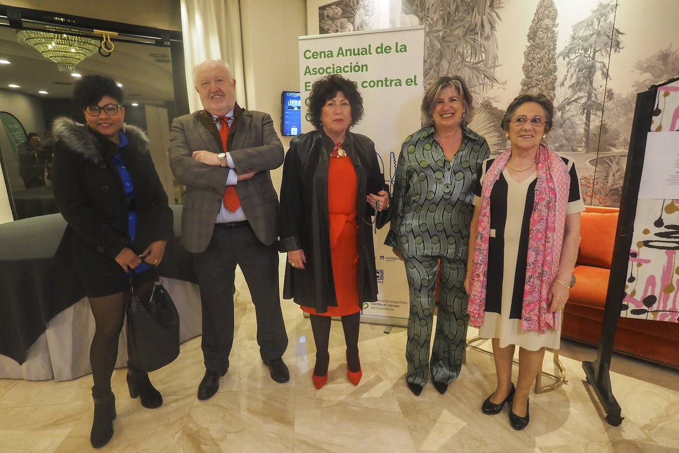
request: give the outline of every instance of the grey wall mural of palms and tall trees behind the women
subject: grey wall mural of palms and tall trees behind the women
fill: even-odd
[[[474,92],[470,125],[492,152],[518,94],[555,105],[547,142],[576,161],[586,204],[619,206],[636,94],[679,75],[679,2],[631,0],[309,1],[318,33],[425,27],[424,88],[459,74]],[[314,29],[309,30],[315,33]]]

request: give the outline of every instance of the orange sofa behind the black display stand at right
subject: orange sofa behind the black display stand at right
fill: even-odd
[[[599,345],[617,223],[617,208],[587,206],[582,213],[576,283],[564,308],[563,338]],[[613,348],[679,369],[679,323],[619,318]]]

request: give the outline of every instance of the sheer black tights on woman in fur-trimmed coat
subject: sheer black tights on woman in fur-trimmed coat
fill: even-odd
[[[135,287],[134,291],[139,297],[150,297],[152,289],[153,281]],[[100,391],[109,391],[111,388],[111,374],[118,357],[118,338],[123,328],[129,297],[129,291],[90,297],[95,325],[90,346],[90,365],[94,387]]]

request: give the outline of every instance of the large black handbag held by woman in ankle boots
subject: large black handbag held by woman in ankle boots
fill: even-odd
[[[127,307],[128,360],[144,372],[152,372],[179,355],[179,313],[160,283],[158,270],[149,300],[140,300],[132,287]]]

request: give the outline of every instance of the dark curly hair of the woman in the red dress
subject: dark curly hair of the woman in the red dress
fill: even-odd
[[[317,130],[323,128],[323,124],[320,124],[320,111],[323,110],[325,102],[337,96],[339,91],[344,93],[344,97],[347,98],[351,106],[351,123],[349,127],[354,126],[354,124],[357,124],[363,118],[363,100],[354,82],[345,79],[339,74],[327,75],[314,81],[309,94],[309,121]]]

